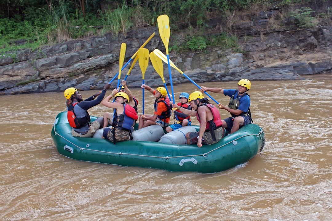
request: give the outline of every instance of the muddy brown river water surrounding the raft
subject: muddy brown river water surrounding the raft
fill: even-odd
[[[265,131],[265,147],[214,174],[66,158],[50,136],[65,110],[63,93],[0,96],[0,220],[332,220],[332,78],[306,78],[252,82],[250,109]],[[201,86],[236,88],[236,82]],[[176,101],[196,89],[175,86]],[[142,91],[132,92],[141,111]],[[210,95],[228,104],[224,95]],[[152,113],[153,97],[145,92],[144,98],[144,112]],[[99,105],[89,112],[109,111]]]

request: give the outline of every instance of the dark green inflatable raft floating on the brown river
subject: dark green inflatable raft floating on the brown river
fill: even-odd
[[[96,117],[91,117],[91,120],[95,119]],[[199,126],[194,128],[198,131]],[[139,133],[139,131],[134,132]],[[196,144],[138,140],[113,144],[102,138],[73,137],[66,111],[56,116],[51,136],[61,155],[76,160],[201,173],[220,172],[245,163],[261,152],[265,144],[264,131],[257,124],[242,126],[219,142],[203,145],[201,148]]]

